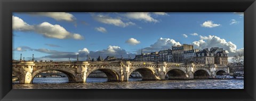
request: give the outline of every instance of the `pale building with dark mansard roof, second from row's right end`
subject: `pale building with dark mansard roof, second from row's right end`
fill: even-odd
[[[196,52],[194,62],[199,64],[214,64],[214,53],[210,52],[208,48]]]

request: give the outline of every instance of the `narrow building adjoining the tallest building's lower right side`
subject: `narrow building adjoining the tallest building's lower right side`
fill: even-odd
[[[198,51],[198,49],[184,51],[184,63],[194,63],[194,57]]]

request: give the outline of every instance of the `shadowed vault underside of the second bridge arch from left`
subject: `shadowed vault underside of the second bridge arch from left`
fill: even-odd
[[[120,75],[118,74],[118,72],[116,70],[113,69],[106,69],[106,68],[98,68],[98,69],[92,69],[89,70],[86,74],[86,79],[87,77],[93,72],[93,71],[102,71],[104,72],[104,74],[106,74],[108,81],[119,81]],[[86,81],[86,80],[85,80]]]

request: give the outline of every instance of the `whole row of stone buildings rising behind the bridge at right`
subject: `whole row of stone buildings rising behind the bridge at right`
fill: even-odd
[[[203,50],[194,49],[193,45],[182,44],[172,46],[172,49],[160,50],[151,53],[136,55],[134,61],[154,61],[154,62],[180,62],[227,65],[228,55],[223,48],[208,48]]]

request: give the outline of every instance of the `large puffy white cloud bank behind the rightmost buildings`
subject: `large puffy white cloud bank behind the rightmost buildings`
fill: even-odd
[[[227,42],[225,39],[221,39],[218,36],[209,35],[209,36],[201,36],[200,40],[194,41],[192,43],[194,48],[205,49],[212,47],[219,47],[226,50],[228,53],[228,57],[233,57],[237,55],[237,53],[244,53],[244,48],[236,49],[236,45],[232,42]]]

